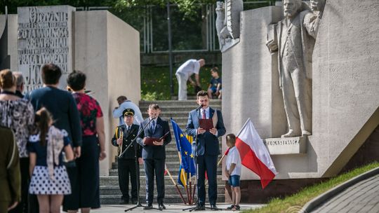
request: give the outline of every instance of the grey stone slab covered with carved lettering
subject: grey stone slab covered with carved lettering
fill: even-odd
[[[40,69],[46,63],[62,69],[60,88],[72,72],[72,6],[18,8],[18,69],[25,76],[25,90],[41,88]]]

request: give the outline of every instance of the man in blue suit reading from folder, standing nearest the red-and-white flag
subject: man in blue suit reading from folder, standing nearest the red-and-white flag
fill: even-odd
[[[197,92],[197,104],[202,106],[200,109],[194,109],[189,112],[186,132],[188,135],[196,138],[192,142],[192,153],[197,156],[197,163],[199,165],[199,179],[197,181],[198,193],[198,206],[197,209],[205,209],[205,172],[208,176],[208,197],[211,208],[217,209],[217,160],[220,154],[220,147],[218,144],[218,137],[225,135],[225,126],[222,121],[221,111],[209,107],[208,93],[204,90]],[[199,120],[208,119],[213,120],[213,128],[204,130],[200,128]]]

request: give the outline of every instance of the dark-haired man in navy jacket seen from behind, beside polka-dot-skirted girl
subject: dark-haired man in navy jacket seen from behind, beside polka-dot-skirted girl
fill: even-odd
[[[38,111],[45,107],[54,118],[54,125],[60,130],[66,130],[74,147],[75,158],[81,155],[81,125],[79,111],[74,97],[58,88],[59,79],[62,76],[60,67],[55,64],[44,64],[41,68],[41,77],[44,87],[27,93],[26,99],[32,103],[34,110]],[[69,180],[72,185],[76,181],[77,170],[74,168],[75,161],[66,165]],[[75,193],[75,192],[72,192]],[[78,192],[79,193],[79,192]],[[69,202],[67,199],[64,202]],[[38,201],[35,195],[30,196],[29,211],[39,212]]]

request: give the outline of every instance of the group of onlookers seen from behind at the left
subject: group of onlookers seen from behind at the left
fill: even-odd
[[[72,93],[58,88],[61,76],[60,67],[45,64],[44,87],[22,97],[22,74],[0,71],[0,126],[10,151],[4,154],[12,153],[3,174],[14,177],[1,179],[9,190],[2,191],[0,212],[60,212],[62,204],[66,212],[100,207],[99,160],[107,157],[102,109],[85,94],[84,73],[69,74]]]

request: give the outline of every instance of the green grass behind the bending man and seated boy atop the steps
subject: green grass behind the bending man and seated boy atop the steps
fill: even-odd
[[[200,84],[203,90],[207,90],[211,80],[211,68],[201,67]],[[175,71],[178,67],[173,67],[173,88],[174,95],[178,95],[178,80]],[[218,74],[221,76],[221,67],[218,67]],[[192,76],[194,79],[194,76]],[[194,88],[188,84],[188,95],[194,95]],[[141,99],[143,100],[166,100],[171,99],[170,89],[170,68],[169,67],[141,67]]]

